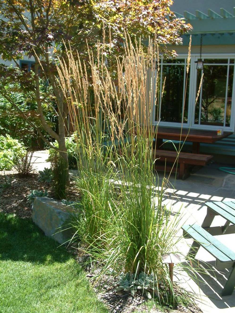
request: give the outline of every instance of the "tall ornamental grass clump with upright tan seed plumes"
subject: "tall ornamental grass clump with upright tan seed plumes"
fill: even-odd
[[[156,186],[154,173],[158,46],[156,38],[149,39],[145,51],[141,42],[124,38],[121,57],[111,54],[104,38],[89,62],[67,51],[68,65],[61,59],[57,67],[79,138],[77,184],[84,212],[73,226],[86,253],[102,264],[101,275],[153,274],[156,294],[170,284],[173,295],[162,256],[178,252],[180,217],[162,205],[167,180]]]

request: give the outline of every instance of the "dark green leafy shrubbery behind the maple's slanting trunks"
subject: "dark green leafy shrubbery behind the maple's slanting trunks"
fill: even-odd
[[[20,70],[19,70],[20,71]],[[40,94],[45,101],[43,101],[43,114],[47,123],[55,130],[57,114],[54,110],[55,100],[51,86],[39,78],[40,81]],[[42,134],[50,140],[50,136],[41,127],[38,120],[37,103],[35,100],[34,90],[27,90],[24,92],[20,83],[9,83],[4,86],[4,90],[8,95],[6,100],[0,95],[0,135],[8,134],[14,139],[21,140],[27,148],[32,146],[44,146],[44,141],[41,141],[38,132],[35,128],[25,119],[25,115],[30,116],[30,120],[39,127]],[[14,105],[21,110],[15,109]]]

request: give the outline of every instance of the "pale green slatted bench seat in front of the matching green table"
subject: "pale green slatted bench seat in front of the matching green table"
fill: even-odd
[[[222,291],[222,296],[231,295],[235,287],[235,253],[197,224],[184,225],[182,229],[185,238],[194,239],[188,253],[189,257],[195,257],[199,247],[202,246],[216,258],[218,270],[232,267]]]

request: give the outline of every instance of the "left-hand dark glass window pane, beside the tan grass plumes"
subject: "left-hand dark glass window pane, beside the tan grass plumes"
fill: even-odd
[[[161,88],[163,88],[164,80],[165,88],[161,100],[160,120],[165,122],[182,123],[182,113],[184,107],[183,123],[187,123],[189,77],[187,82],[186,97],[184,101],[186,59],[172,59],[163,62],[161,77]]]

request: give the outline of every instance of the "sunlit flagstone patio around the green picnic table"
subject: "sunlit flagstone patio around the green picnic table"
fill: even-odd
[[[214,163],[203,167],[195,174],[192,174],[187,180],[175,180],[170,178],[172,186],[165,189],[164,204],[172,205],[173,211],[181,211],[183,218],[181,224],[197,223],[202,224],[206,216],[207,201],[229,201],[235,198],[235,175],[228,174],[218,170],[218,167],[226,166],[224,164]],[[232,167],[232,166],[231,166]],[[174,174],[173,174],[174,175]],[[159,174],[159,179],[163,175]],[[216,216],[212,226],[224,224],[226,221]],[[181,232],[181,231],[180,231]],[[235,251],[235,234],[227,234],[216,236],[228,248]],[[187,254],[191,239],[183,239],[180,243],[180,251]],[[196,259],[199,264],[206,270],[207,274],[197,273],[193,280],[189,278],[187,273],[181,273],[180,281],[185,288],[195,292],[198,295],[198,303],[204,313],[228,313],[235,311],[235,290],[232,295],[221,297],[221,291],[228,277],[228,270],[225,273],[219,273],[213,265],[215,259],[205,249],[200,248]],[[212,266],[204,264],[207,262]],[[175,278],[177,279],[177,278]],[[199,287],[198,287],[199,286]]]

